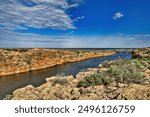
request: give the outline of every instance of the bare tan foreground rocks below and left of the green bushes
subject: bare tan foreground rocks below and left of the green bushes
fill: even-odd
[[[78,83],[99,71],[88,69],[73,76],[54,76],[46,83],[33,87],[31,85],[13,92],[13,100],[149,100],[150,82],[148,84],[124,84],[112,82],[109,85],[78,87]],[[150,77],[147,75],[147,78]]]

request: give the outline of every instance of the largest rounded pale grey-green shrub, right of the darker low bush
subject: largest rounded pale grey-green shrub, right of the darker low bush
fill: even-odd
[[[138,60],[115,61],[108,68],[107,75],[120,83],[142,83],[145,75],[142,73],[143,67]]]

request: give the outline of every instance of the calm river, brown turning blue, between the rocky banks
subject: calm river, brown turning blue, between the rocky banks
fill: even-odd
[[[6,95],[11,94],[14,90],[24,87],[26,85],[39,86],[45,83],[45,78],[54,76],[56,74],[65,75],[76,75],[78,72],[83,71],[87,68],[97,67],[100,63],[104,61],[115,60],[117,58],[131,59],[130,52],[119,52],[117,54],[99,57],[88,60],[83,60],[75,63],[67,63],[60,66],[55,66],[47,69],[14,74],[9,76],[0,77],[0,99],[4,98]]]

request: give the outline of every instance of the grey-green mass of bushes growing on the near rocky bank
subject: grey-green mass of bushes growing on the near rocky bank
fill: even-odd
[[[143,70],[148,69],[149,63],[137,59],[119,59],[111,63],[106,62],[101,66],[107,68],[107,70],[85,77],[84,80],[79,82],[78,86],[108,85],[113,81],[117,83],[143,84],[146,80]]]

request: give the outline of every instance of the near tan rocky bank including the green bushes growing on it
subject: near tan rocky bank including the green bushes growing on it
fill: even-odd
[[[149,100],[149,59],[104,62],[73,76],[53,76],[46,83],[13,92],[13,100]]]

